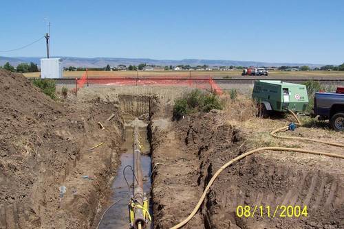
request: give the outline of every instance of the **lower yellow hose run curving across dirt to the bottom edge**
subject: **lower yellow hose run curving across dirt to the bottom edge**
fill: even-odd
[[[264,150],[272,150],[272,151],[289,151],[289,152],[298,152],[298,153],[302,153],[302,154],[315,154],[315,155],[323,155],[323,156],[330,156],[333,158],[341,158],[344,159],[344,155],[338,155],[338,154],[330,154],[330,153],[322,153],[322,152],[316,152],[316,151],[310,151],[310,150],[305,150],[305,149],[298,149],[298,148],[287,148],[287,147],[261,147],[258,149],[253,149],[249,152],[246,152],[245,154],[241,154],[240,156],[237,156],[236,158],[234,158],[233,160],[228,161],[226,164],[222,165],[221,168],[219,168],[219,170],[216,171],[216,173],[214,174],[214,176],[211,178],[211,180],[208,182],[208,184],[206,185],[206,188],[204,189],[202,196],[200,198],[200,200],[198,201],[198,203],[196,204],[195,208],[193,208],[193,211],[191,212],[191,214],[189,215],[189,217],[187,217],[186,219],[184,219],[183,221],[181,221],[179,224],[173,226],[171,229],[177,229],[177,228],[181,228],[182,226],[184,226],[187,222],[190,221],[190,219],[192,219],[193,216],[195,216],[195,214],[197,213],[197,210],[200,208],[202,202],[204,201],[204,198],[206,197],[206,193],[208,192],[208,189],[211,187],[211,185],[213,185],[213,182],[215,181],[215,179],[217,178],[217,176],[219,176],[219,173],[221,173],[224,169],[226,169],[226,167],[232,165],[234,162],[241,160],[242,158],[246,158],[246,156],[249,156],[251,154],[255,154],[257,152],[260,151],[264,151]]]

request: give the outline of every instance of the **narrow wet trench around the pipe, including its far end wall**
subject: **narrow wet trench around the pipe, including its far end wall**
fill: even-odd
[[[119,105],[125,121],[124,141],[120,147],[120,166],[111,184],[111,194],[107,203],[115,203],[108,208],[98,224],[100,229],[129,228],[129,199],[133,195],[133,128],[138,126],[141,145],[141,167],[144,192],[151,192],[151,148],[149,143],[149,104],[148,96],[119,95]],[[128,167],[131,166],[131,167]],[[150,209],[151,211],[151,209]],[[151,213],[151,215],[153,215]],[[95,225],[95,224],[94,224]],[[147,228],[151,228],[149,224]]]

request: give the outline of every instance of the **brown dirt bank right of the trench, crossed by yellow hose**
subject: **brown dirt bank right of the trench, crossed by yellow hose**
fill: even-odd
[[[155,228],[169,228],[185,219],[217,169],[250,149],[277,144],[342,153],[338,147],[272,138],[271,130],[288,120],[244,121],[237,113],[226,114],[230,111],[191,115],[170,122],[163,131],[155,128],[162,120],[153,120],[153,163],[170,164],[159,165],[154,172],[154,214],[159,217]],[[344,140],[338,133],[308,128],[285,134]],[[343,228],[343,184],[343,161],[336,158],[262,152],[225,169],[185,228]],[[238,217],[237,206],[250,206],[249,217]],[[252,216],[255,206],[261,206],[263,213],[258,210]],[[281,206],[301,210],[307,206],[308,216],[288,217]],[[273,217],[275,209],[279,210]]]

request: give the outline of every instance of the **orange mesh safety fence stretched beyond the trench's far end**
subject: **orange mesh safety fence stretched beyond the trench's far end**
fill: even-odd
[[[76,91],[83,88],[85,83],[103,84],[108,86],[189,86],[214,91],[218,95],[222,94],[222,89],[211,78],[176,78],[176,77],[87,77],[87,72],[80,79],[76,79]]]

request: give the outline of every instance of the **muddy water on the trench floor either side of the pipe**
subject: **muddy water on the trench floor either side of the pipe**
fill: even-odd
[[[137,123],[140,127],[140,143],[142,145],[141,166],[142,175],[144,179],[144,192],[147,196],[150,195],[151,189],[151,157],[148,155],[150,152],[149,142],[147,140],[147,124],[143,121],[127,121],[125,125],[125,142],[122,144],[122,154],[120,156],[121,165],[118,167],[117,175],[114,183],[111,186],[113,194],[109,202],[114,203],[104,215],[103,220],[99,226],[100,229],[114,229],[114,228],[129,228],[129,199],[133,194],[132,187],[129,189],[125,178],[129,185],[133,183],[133,173],[129,167],[125,169],[125,176],[123,176],[123,169],[127,165],[133,165],[133,125]]]

